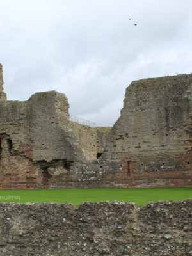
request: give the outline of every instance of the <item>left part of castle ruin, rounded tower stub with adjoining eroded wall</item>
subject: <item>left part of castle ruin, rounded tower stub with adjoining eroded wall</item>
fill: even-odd
[[[47,188],[52,175],[65,176],[70,163],[84,161],[65,95],[35,93],[25,102],[1,102],[0,118],[0,188]]]

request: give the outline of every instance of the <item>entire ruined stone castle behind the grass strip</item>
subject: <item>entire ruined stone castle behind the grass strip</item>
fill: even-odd
[[[55,91],[6,100],[0,66],[0,189],[192,185],[192,75],[134,81],[113,127],[70,121]]]

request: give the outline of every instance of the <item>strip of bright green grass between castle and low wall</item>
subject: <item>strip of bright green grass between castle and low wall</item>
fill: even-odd
[[[82,202],[136,202],[145,205],[159,200],[192,199],[191,188],[131,188],[131,189],[40,189],[0,190],[1,202],[57,202],[79,205]]]

